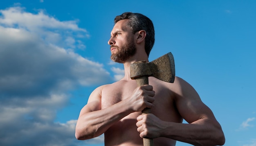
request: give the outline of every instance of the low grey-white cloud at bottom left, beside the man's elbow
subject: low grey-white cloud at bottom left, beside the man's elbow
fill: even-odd
[[[68,146],[74,137],[74,126],[54,123],[56,109],[67,103],[66,95],[11,98],[0,103],[1,146]],[[15,137],[15,141],[13,141]],[[62,137],[62,142],[58,137]],[[35,140],[32,140],[35,139]],[[74,138],[73,138],[74,139]]]

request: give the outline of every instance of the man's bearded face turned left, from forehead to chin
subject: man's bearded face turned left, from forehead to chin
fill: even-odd
[[[126,26],[128,20],[120,20],[117,22],[111,32],[108,44],[111,50],[111,60],[124,63],[127,59],[136,53],[134,43],[134,35],[130,28]]]

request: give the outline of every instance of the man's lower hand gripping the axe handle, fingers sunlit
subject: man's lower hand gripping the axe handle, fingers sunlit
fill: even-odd
[[[152,113],[139,115],[137,121],[137,131],[140,133],[139,136],[141,138],[150,137],[154,139],[161,136],[161,131],[164,129],[164,121],[160,120]]]

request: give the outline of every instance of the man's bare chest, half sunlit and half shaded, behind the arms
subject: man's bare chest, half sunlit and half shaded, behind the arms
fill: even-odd
[[[163,85],[159,82],[153,81],[149,82],[149,84],[153,86],[153,90],[155,91],[155,101],[153,102],[151,113],[165,121],[180,122],[181,117],[175,107],[173,92],[170,89],[168,89],[168,86],[166,84]],[[101,93],[101,108],[105,109],[107,107],[115,105],[116,103],[122,100],[130,98],[130,96],[134,94],[134,90],[136,88],[136,81],[119,82],[118,84],[114,83],[109,85],[108,87],[105,87]],[[140,114],[141,112],[130,113],[125,118],[120,120],[117,124],[115,124],[115,126],[113,127],[118,127],[118,125],[123,125],[127,121],[131,120],[134,121],[132,122],[133,124],[131,124],[131,126],[134,126],[134,123],[136,123],[136,118]],[[126,123],[126,125],[128,124]]]

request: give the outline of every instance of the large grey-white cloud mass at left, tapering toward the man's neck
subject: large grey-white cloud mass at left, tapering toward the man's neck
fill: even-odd
[[[23,20],[22,17],[27,20],[30,20],[28,17],[33,17],[35,20],[50,18],[45,14],[34,15],[20,11],[20,9],[22,8],[13,7],[4,11],[0,10],[0,12],[7,14],[7,12],[15,11],[14,15],[26,13],[26,15],[19,15],[20,21]],[[0,61],[2,62],[0,65],[2,71],[0,72],[0,84],[5,85],[0,87],[1,91],[10,93],[9,91],[12,90],[15,93],[31,94],[40,90],[42,93],[42,87],[45,85],[49,85],[43,87],[47,92],[53,89],[56,91],[58,88],[70,89],[77,83],[81,85],[99,84],[110,78],[102,64],[85,59],[73,50],[66,50],[58,42],[49,43],[41,33],[38,33],[38,30],[24,29],[20,24],[25,25],[26,23],[23,24],[23,22],[16,21],[16,17],[9,16],[14,19],[12,20],[5,14],[3,14],[4,17],[0,18]],[[45,16],[42,17],[41,15]],[[5,25],[7,22],[8,26]],[[16,26],[14,26],[14,22],[17,23]],[[58,26],[59,23],[62,22],[56,22],[56,25]],[[30,25],[36,27],[36,24]],[[29,26],[26,27],[30,29]],[[52,28],[54,27],[52,26]],[[70,28],[76,27],[67,27],[67,30],[70,31]],[[79,30],[83,29],[77,28],[73,31]],[[61,32],[61,30],[52,30],[50,33],[55,31]],[[54,34],[60,36],[60,34]],[[69,34],[66,36],[66,38],[58,38],[57,40],[59,42],[66,41],[66,46],[76,47],[74,45],[76,38],[72,35],[69,36]],[[79,43],[81,45],[81,41]]]

